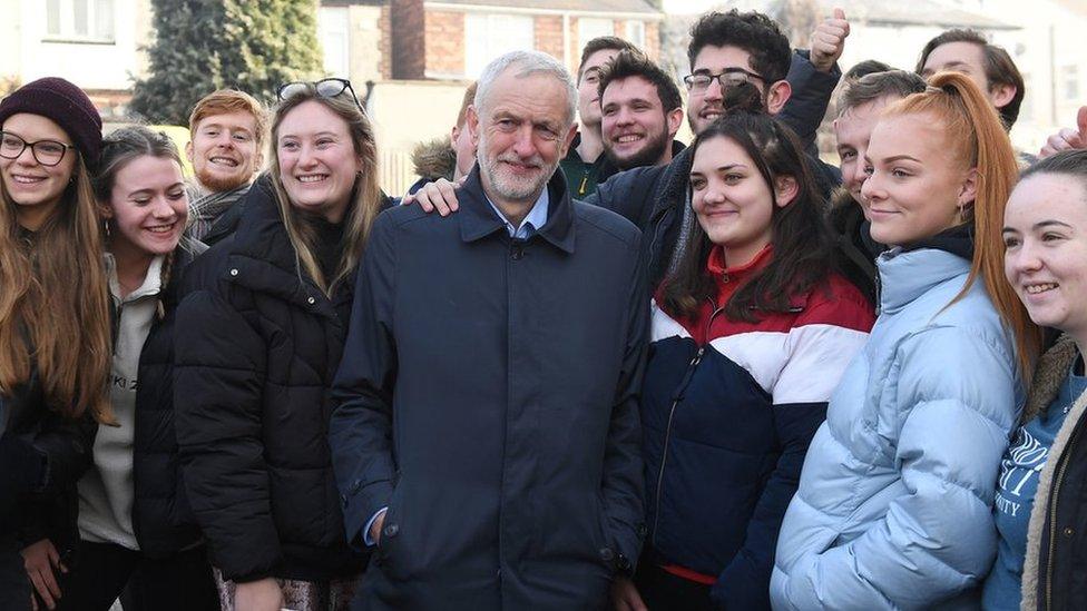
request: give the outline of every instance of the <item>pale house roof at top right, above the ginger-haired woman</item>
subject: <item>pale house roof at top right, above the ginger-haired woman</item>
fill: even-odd
[[[850,21],[893,26],[937,26],[940,28],[977,28],[982,30],[1018,30],[1020,26],[1000,21],[968,10],[948,7],[933,0],[822,0],[828,11],[841,7]]]

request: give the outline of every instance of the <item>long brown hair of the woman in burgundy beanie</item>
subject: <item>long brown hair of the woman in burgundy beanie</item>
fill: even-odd
[[[50,408],[70,417],[90,410],[112,423],[109,289],[82,154],[32,243],[16,206],[0,181],[0,393],[11,394],[37,369]]]

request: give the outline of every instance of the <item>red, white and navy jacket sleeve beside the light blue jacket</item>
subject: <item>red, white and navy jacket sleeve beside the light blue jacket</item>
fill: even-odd
[[[858,302],[823,302],[797,317],[786,339],[786,362],[773,386],[773,415],[781,451],[747,524],[743,548],[711,591],[719,609],[768,609],[777,533],[800,483],[826,403],[853,356],[868,339],[872,311]]]

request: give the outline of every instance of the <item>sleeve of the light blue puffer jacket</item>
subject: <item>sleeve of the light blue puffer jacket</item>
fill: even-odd
[[[785,609],[923,609],[989,572],[995,485],[1021,394],[1015,361],[983,333],[948,326],[908,337],[895,361],[883,392],[901,425],[878,426],[898,438],[897,496],[856,539],[796,559],[775,589]]]

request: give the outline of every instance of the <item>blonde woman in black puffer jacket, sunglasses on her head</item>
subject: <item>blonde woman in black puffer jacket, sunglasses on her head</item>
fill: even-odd
[[[345,609],[363,568],[344,535],[327,388],[384,198],[373,129],[345,83],[281,89],[271,171],[178,308],[183,474],[227,610]]]

